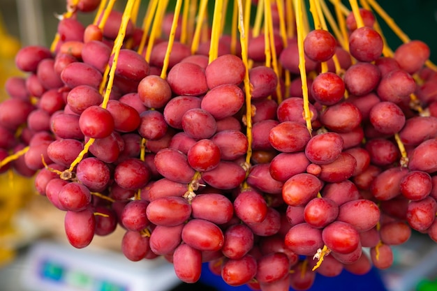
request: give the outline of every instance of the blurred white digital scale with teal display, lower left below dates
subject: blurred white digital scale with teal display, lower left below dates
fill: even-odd
[[[166,291],[180,283],[165,260],[131,262],[121,253],[40,242],[27,254],[27,291]]]

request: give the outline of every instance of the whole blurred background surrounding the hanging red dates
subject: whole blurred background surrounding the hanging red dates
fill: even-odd
[[[123,6],[125,1],[117,5]],[[437,62],[437,1],[378,1],[411,39],[431,47]],[[65,0],[0,0],[0,98],[6,78],[20,75],[14,64],[24,45],[50,46],[57,29],[57,14]],[[84,23],[94,15],[81,15]],[[382,24],[394,48],[399,39]],[[1,137],[0,137],[1,138]],[[182,284],[165,260],[130,262],[120,253],[120,227],[109,237],[96,237],[86,249],[69,246],[64,234],[64,213],[34,193],[33,181],[0,176],[0,289],[3,291],[168,291],[249,290],[230,288],[207,266],[200,283]],[[372,270],[366,276],[344,272],[339,278],[318,276],[311,290],[437,290],[437,246],[413,233],[407,244],[394,248],[394,266]],[[327,287],[329,286],[329,287]]]

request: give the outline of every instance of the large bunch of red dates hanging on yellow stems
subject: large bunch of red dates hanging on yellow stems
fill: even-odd
[[[376,1],[114,2],[68,0],[0,104],[1,170],[35,176],[71,245],[123,227],[129,260],[277,291],[437,241],[436,67]]]

